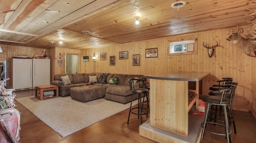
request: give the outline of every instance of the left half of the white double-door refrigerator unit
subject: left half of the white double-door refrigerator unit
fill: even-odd
[[[32,89],[32,59],[12,59],[12,88]]]

